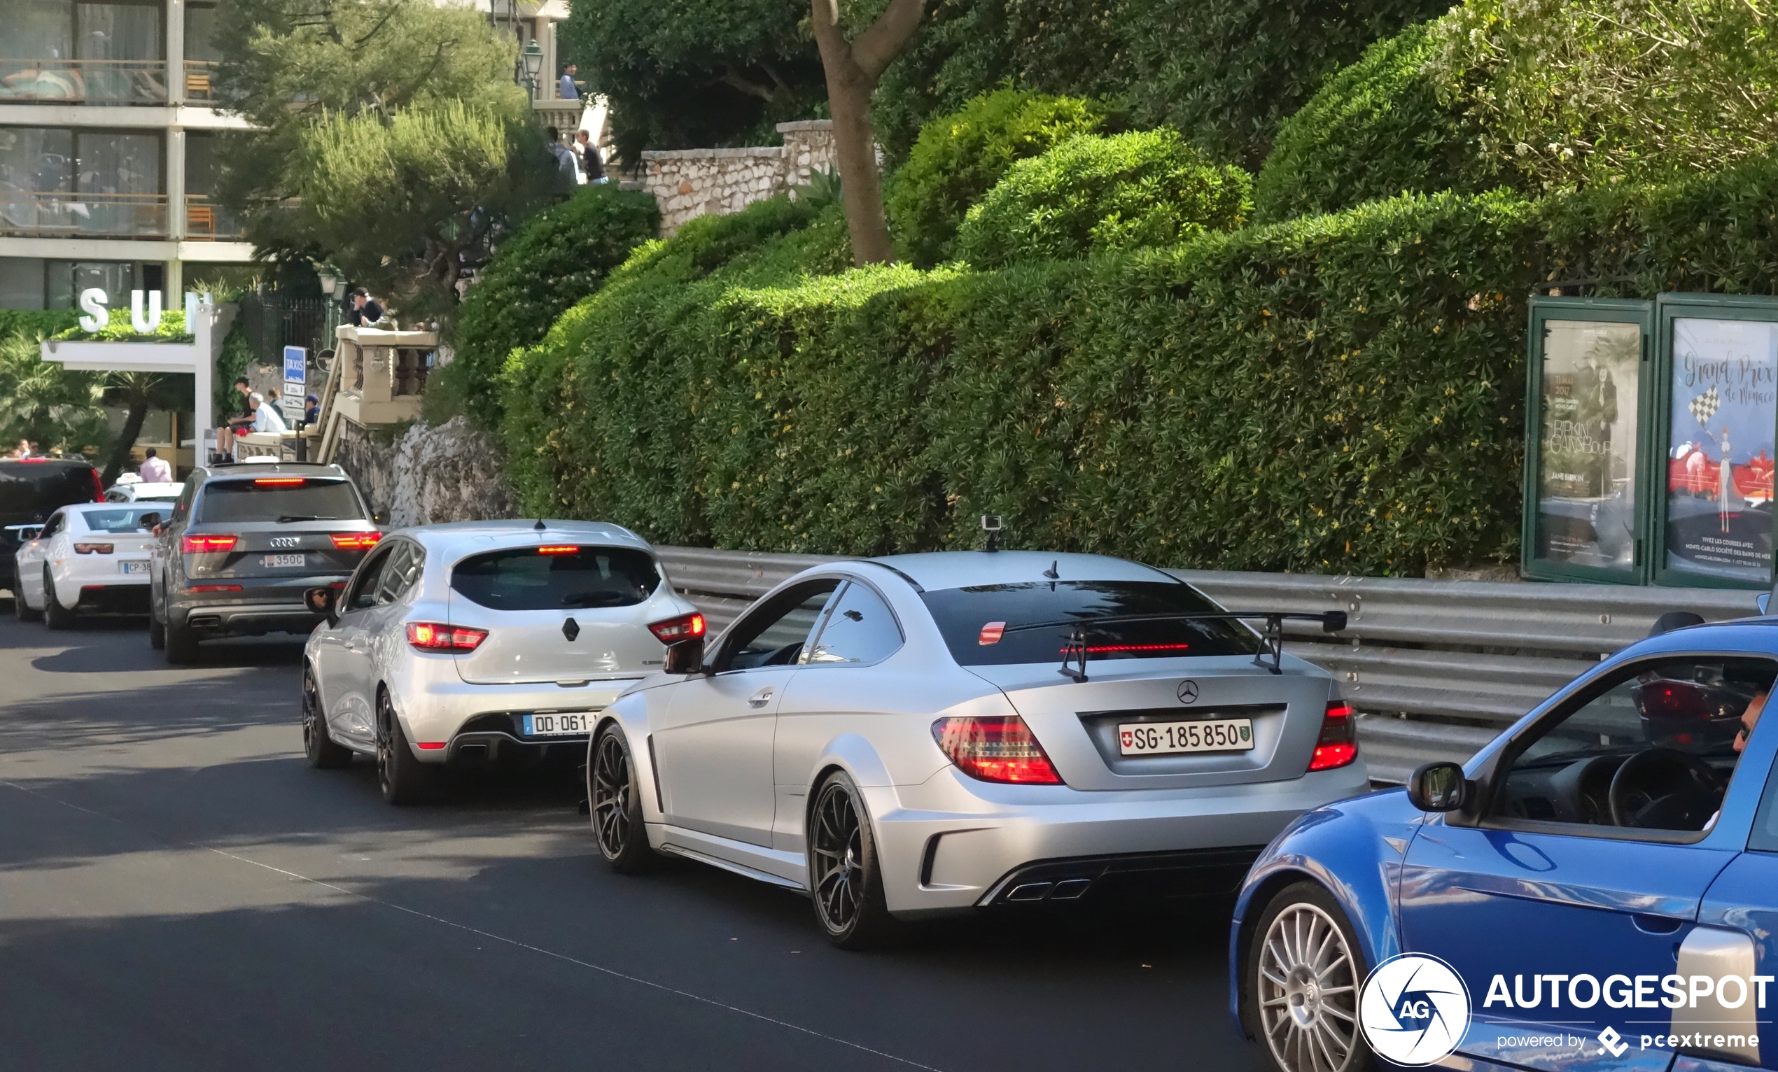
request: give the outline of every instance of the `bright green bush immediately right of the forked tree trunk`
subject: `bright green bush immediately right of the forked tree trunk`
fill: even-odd
[[[926,268],[951,260],[957,228],[1006,169],[1104,123],[1093,101],[985,92],[919,132],[885,197],[901,256]]]

